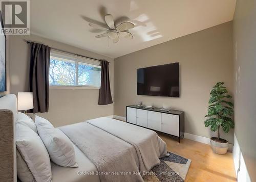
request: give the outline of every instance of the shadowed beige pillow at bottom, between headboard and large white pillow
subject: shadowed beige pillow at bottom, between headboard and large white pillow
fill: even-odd
[[[17,153],[17,176],[22,182],[36,182],[34,176],[32,175],[31,171],[27,163],[20,155],[19,151],[16,150]]]

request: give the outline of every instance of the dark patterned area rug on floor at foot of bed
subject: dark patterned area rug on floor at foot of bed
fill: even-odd
[[[168,152],[169,156],[160,159],[160,165],[155,166],[143,177],[146,182],[180,182],[184,181],[191,160]]]

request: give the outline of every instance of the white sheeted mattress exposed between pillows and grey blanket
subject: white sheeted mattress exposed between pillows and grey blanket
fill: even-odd
[[[57,129],[59,134],[67,137],[60,129]],[[61,167],[51,162],[52,167],[52,182],[100,182],[99,176],[96,175],[97,168],[95,165],[77,148],[75,144],[77,168]]]

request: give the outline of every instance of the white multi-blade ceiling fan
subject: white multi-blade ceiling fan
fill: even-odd
[[[119,36],[125,37],[127,39],[133,39],[133,35],[130,32],[126,32],[127,30],[135,27],[133,23],[125,21],[115,27],[114,18],[111,14],[105,15],[105,22],[108,25],[108,28],[102,27],[98,24],[89,23],[89,25],[95,29],[108,31],[95,37],[109,37],[113,40],[113,43],[117,43],[119,41]]]

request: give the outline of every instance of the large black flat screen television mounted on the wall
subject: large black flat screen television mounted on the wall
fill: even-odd
[[[137,69],[137,95],[180,97],[179,63]]]

